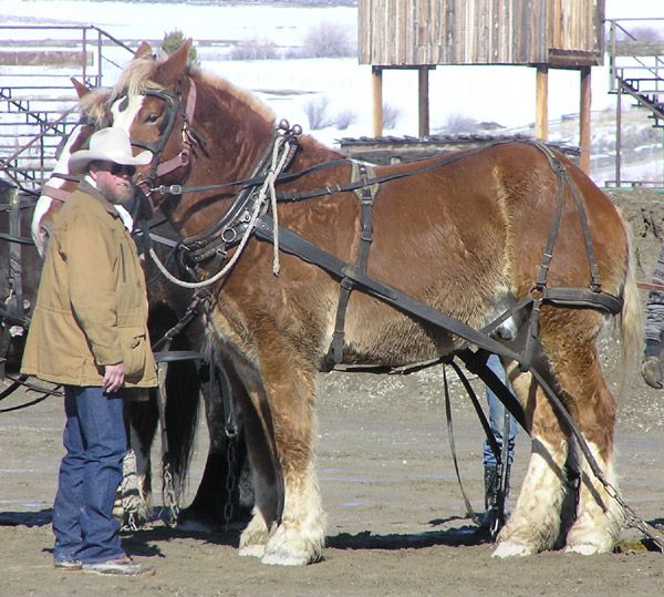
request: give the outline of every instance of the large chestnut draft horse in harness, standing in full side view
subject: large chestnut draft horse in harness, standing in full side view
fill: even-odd
[[[535,143],[353,163],[278,130],[255,97],[188,65],[190,43],[129,64],[111,112],[155,153],[141,175],[209,278],[209,331],[247,390],[256,506],[240,554],[279,565],[322,557],[314,402],[331,356],[397,367],[470,344],[513,361],[532,436],[495,555],[553,547],[572,442],[547,388],[615,486],[615,403],[595,339],[604,315],[620,316],[635,354],[640,309],[627,226],[611,200]],[[500,342],[479,333],[499,326],[511,329]],[[588,462],[581,467],[566,549],[609,552],[623,512]]]

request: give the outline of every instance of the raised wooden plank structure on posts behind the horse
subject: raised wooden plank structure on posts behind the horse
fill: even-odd
[[[549,69],[580,72],[581,166],[590,163],[590,71],[603,63],[604,0],[360,0],[359,54],[372,65],[374,135],[383,70],[418,71],[419,136],[429,133],[428,72],[440,64],[536,69],[536,131],[548,137]]]

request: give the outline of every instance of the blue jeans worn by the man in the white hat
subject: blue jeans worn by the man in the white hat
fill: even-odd
[[[127,452],[122,394],[101,388],[64,389],[66,454],[53,504],[53,557],[85,564],[123,557],[115,492]]]

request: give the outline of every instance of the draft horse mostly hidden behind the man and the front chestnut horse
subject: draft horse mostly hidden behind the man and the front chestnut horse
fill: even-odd
[[[148,44],[142,44],[137,55],[149,55],[152,50]],[[31,233],[34,246],[41,256],[51,230],[56,225],[58,214],[64,202],[79,184],[79,178],[69,173],[68,162],[70,155],[86,145],[92,133],[104,124],[106,90],[91,91],[73,80],[80,97],[81,122],[74,127],[66,142],[63,144],[59,159],[50,177],[42,188],[31,220]],[[139,199],[138,200],[144,200]],[[133,214],[141,225],[141,214]],[[163,219],[163,218],[162,218]],[[165,225],[164,225],[165,224]],[[162,258],[173,257],[176,245],[174,231],[168,223],[162,222],[156,229],[160,241],[158,251]],[[34,255],[33,257],[37,257]],[[30,268],[38,276],[41,268],[39,259],[32,259]],[[243,474],[246,449],[241,425],[238,421],[227,416],[231,400],[232,387],[237,385],[232,375],[219,370],[222,362],[214,346],[209,346],[207,334],[198,313],[191,312],[193,292],[166,282],[151,261],[144,259],[146,278],[149,280],[149,319],[148,328],[153,341],[164,339],[164,334],[172,334],[168,346],[159,347],[160,350],[198,352],[205,361],[175,360],[168,363],[164,398],[164,422],[166,433],[162,442],[167,441],[167,450],[163,450],[164,470],[172,477],[170,490],[175,495],[169,496],[179,503],[184,491],[191,449],[195,440],[199,395],[205,400],[206,420],[209,432],[209,451],[203,478],[191,504],[178,512],[178,525],[183,528],[197,531],[211,531],[220,528],[228,523],[237,523],[247,517],[247,502],[251,493],[245,492],[243,501],[240,498],[239,477]],[[35,284],[30,288],[35,289]],[[35,290],[32,292],[34,297]],[[186,320],[185,320],[186,318]],[[177,332],[174,329],[177,328]],[[168,357],[168,352],[166,353]],[[210,366],[211,364],[211,366]],[[221,388],[226,384],[226,388]],[[237,391],[237,390],[236,390]],[[226,392],[226,398],[224,398]],[[226,403],[225,403],[226,402]],[[159,409],[157,395],[151,392],[148,402],[128,402],[126,404],[126,419],[129,429],[129,444],[135,453],[136,477],[125,477],[123,490],[128,494],[125,504],[132,508],[124,513],[125,523],[138,525],[148,521],[152,512],[152,478],[151,478],[151,446],[158,426]],[[234,432],[231,426],[240,429],[238,436],[229,439]],[[229,459],[229,445],[232,443],[232,459]],[[229,480],[231,482],[229,482]],[[126,486],[125,486],[126,485]],[[168,486],[166,487],[168,490]]]

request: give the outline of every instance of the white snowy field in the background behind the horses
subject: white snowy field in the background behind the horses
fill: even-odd
[[[83,25],[94,24],[121,40],[160,40],[164,33],[180,30],[196,40],[220,40],[215,48],[200,48],[201,68],[257,93],[278,119],[299,123],[321,141],[333,144],[344,136],[372,135],[371,69],[355,58],[276,59],[230,61],[228,49],[238,42],[267,40],[286,53],[302,43],[307,33],[321,23],[333,23],[356,38],[357,9],[347,6],[297,7],[278,2],[159,3],[90,0],[0,0],[0,24]],[[664,16],[657,0],[608,0],[606,18]],[[0,35],[10,32],[0,30]],[[17,39],[18,32],[11,32]],[[34,32],[31,33],[34,37]],[[72,33],[70,32],[71,37]],[[1,39],[0,39],[1,43]],[[126,56],[123,56],[126,60]],[[2,76],[0,70],[0,76]],[[6,72],[6,79],[9,72]],[[104,84],[113,83],[113,74]],[[459,120],[494,122],[519,130],[535,120],[536,71],[526,66],[438,66],[429,75],[430,131]],[[614,106],[608,93],[606,66],[592,71],[592,111]],[[313,131],[305,107],[323,99],[331,120],[350,114],[352,121],[340,130],[335,124]],[[385,134],[417,135],[417,73],[387,70],[383,75],[383,101],[396,114]],[[579,73],[550,71],[549,119],[559,121],[579,110]],[[649,121],[644,117],[644,126]],[[554,133],[552,133],[553,140]],[[575,144],[570,138],[554,138]]]

